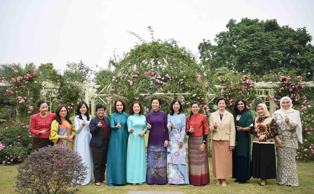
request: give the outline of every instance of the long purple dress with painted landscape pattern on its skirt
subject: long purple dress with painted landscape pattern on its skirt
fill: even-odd
[[[152,126],[149,130],[147,144],[146,183],[148,185],[164,185],[167,183],[167,148],[169,141],[167,115],[160,111],[147,114],[147,122]]]

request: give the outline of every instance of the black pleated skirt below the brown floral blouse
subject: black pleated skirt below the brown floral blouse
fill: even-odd
[[[276,179],[275,145],[253,142],[251,176],[256,179]]]

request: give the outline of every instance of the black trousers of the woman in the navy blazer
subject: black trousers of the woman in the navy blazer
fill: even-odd
[[[102,140],[100,147],[92,146],[93,172],[95,183],[105,180],[108,140]]]

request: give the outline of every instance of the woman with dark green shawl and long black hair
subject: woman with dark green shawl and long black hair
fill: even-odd
[[[252,114],[242,98],[236,100],[232,111],[236,126],[236,146],[232,151],[232,178],[239,184],[250,180]]]

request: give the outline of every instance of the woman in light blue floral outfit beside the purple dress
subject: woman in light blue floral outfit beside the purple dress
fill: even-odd
[[[190,184],[187,174],[187,149],[185,144],[186,118],[181,114],[181,101],[175,99],[170,105],[167,127],[169,129],[169,144],[167,147],[167,162],[170,184]]]

